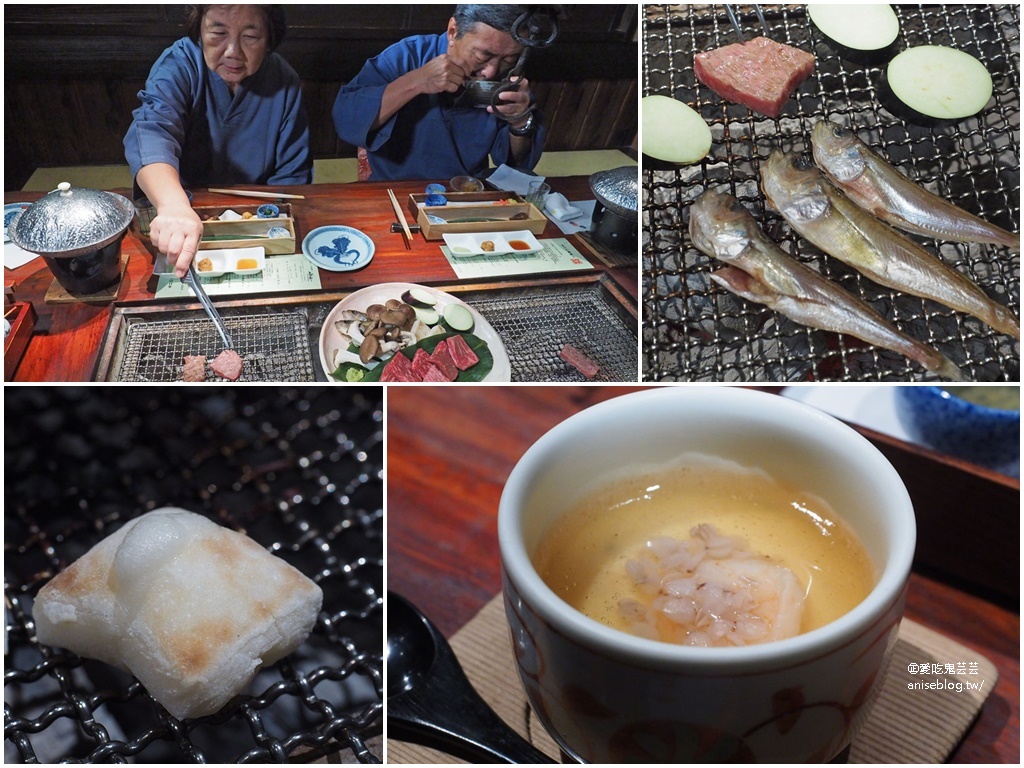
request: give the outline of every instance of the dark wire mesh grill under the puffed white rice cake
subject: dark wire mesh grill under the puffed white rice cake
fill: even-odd
[[[47,387],[4,393],[4,758],[380,762],[382,390]],[[40,645],[33,598],[127,520],[179,506],[324,590],[312,634],[216,715]]]

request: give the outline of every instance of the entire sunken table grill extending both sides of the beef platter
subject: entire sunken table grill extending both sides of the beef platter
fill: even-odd
[[[600,368],[597,381],[636,381],[636,300],[606,274],[534,283],[437,286],[480,311],[509,353],[513,381],[585,381],[558,353],[568,343]],[[324,322],[346,294],[315,294],[218,303],[236,349],[242,381],[326,381],[313,351]],[[195,305],[124,303],[115,307],[93,378],[97,381],[181,380],[186,354],[215,356],[223,347]],[[215,378],[215,377],[213,377]]]

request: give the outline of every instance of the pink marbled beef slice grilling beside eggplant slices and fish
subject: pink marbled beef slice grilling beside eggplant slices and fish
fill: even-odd
[[[725,100],[777,118],[793,92],[814,72],[814,54],[757,37],[697,53],[693,72]]]

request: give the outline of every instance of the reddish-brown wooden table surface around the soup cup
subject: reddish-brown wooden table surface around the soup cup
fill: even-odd
[[[515,463],[559,422],[634,389],[389,390],[388,590],[420,607],[446,637],[464,628],[501,592],[497,511]],[[1020,482],[856,428],[900,472],[918,512],[918,556],[905,616],[983,655],[998,672],[950,760],[1019,763]],[[990,519],[995,522],[986,524]],[[931,536],[936,529],[941,537]],[[964,562],[970,558],[978,562]],[[989,586],[968,581],[976,569],[994,570],[997,560],[1009,560],[1000,573],[1009,571],[1012,579]],[[957,573],[957,567],[967,570]]]

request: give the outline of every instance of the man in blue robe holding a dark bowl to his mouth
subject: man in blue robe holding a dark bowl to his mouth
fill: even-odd
[[[507,164],[529,170],[544,148],[525,78],[497,105],[460,101],[470,80],[499,80],[522,44],[511,34],[528,6],[458,5],[441,35],[406,38],[366,62],[334,104],[338,135],[368,154],[373,180],[480,176]],[[497,113],[503,114],[503,119]]]

